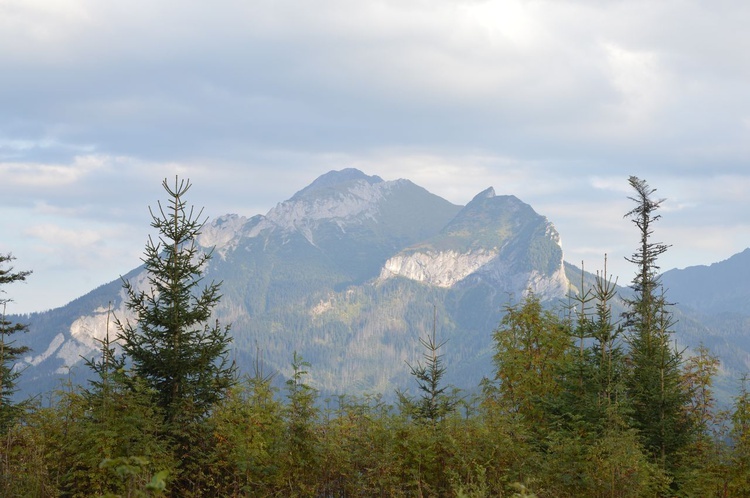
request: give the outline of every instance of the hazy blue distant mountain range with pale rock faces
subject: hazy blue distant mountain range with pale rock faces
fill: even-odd
[[[433,327],[447,341],[448,382],[475,388],[492,375],[504,306],[528,292],[560,303],[581,282],[552,223],[516,197],[489,188],[457,206],[408,180],[355,169],[321,176],[265,216],[221,216],[198,242],[214,251],[205,278],[223,282],[216,315],[232,323],[240,369],[260,360],[288,376],[296,351],[312,365],[311,383],[330,393],[410,386],[406,362],[421,358],[419,338]],[[749,276],[750,250],[663,275],[678,303],[679,344],[704,343],[721,356],[725,393],[750,367]],[[146,285],[142,268],[124,278]],[[115,334],[110,307],[126,315],[119,279],[16,317],[30,323],[22,340],[33,349],[21,394],[49,391],[69,375],[82,381],[82,357],[97,354],[108,328]]]

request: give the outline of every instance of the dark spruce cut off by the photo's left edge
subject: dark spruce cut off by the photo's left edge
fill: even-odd
[[[12,266],[6,266],[14,259],[11,254],[0,254],[0,286],[26,280],[31,274],[30,271],[14,271]],[[11,400],[21,374],[15,366],[21,355],[29,350],[26,346],[15,346],[15,341],[10,340],[11,335],[26,332],[28,325],[13,323],[6,318],[6,308],[11,300],[3,297],[4,294],[5,291],[0,288],[0,433],[18,414],[20,406]]]

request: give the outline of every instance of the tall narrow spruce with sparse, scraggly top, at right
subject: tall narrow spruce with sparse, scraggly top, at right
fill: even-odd
[[[655,200],[656,190],[644,180],[631,176],[629,183],[636,192],[630,197],[636,207],[625,217],[638,227],[640,245],[626,258],[637,267],[631,285],[633,296],[625,300],[630,346],[626,388],[641,442],[654,462],[674,475],[677,455],[692,431],[686,416],[690,397],[682,383],[683,360],[672,340],[674,319],[657,265],[669,246],[652,240],[653,223],[660,218],[656,210],[664,200]]]

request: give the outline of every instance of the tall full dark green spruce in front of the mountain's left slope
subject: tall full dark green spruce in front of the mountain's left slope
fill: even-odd
[[[162,182],[167,206],[149,208],[158,242],[149,237],[143,263],[149,289],[123,283],[126,306],[135,321],[117,320],[118,339],[135,374],[156,392],[168,423],[200,419],[233,383],[234,365],[228,361],[229,326],[211,324],[219,302],[220,283],[200,288],[201,271],[211,258],[196,245],[206,220],[203,210],[188,208],[184,197],[189,180],[175,177],[174,187]]]

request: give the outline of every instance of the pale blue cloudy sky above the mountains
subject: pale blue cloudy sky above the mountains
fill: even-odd
[[[745,0],[0,0],[9,313],[140,264],[161,181],[265,214],[347,167],[455,204],[493,186],[564,257],[632,280],[631,175],[662,270],[750,246]]]

